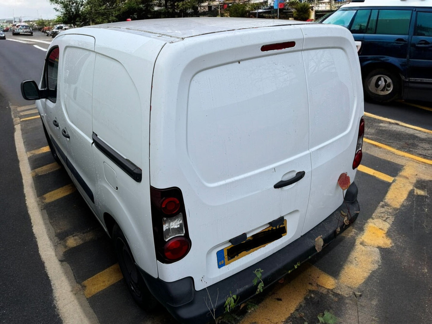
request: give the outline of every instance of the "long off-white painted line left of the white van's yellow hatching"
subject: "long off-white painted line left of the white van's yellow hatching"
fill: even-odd
[[[98,319],[83,294],[77,289],[72,270],[66,262],[60,262],[55,254],[55,248],[50,240],[53,229],[47,228],[49,222],[44,222],[48,216],[38,205],[35,185],[31,175],[29,160],[22,140],[21,124],[15,125],[15,145],[19,159],[22,183],[24,185],[25,202],[32,222],[33,233],[38,244],[39,254],[44,262],[45,270],[51,281],[55,304],[64,324],[98,323]]]

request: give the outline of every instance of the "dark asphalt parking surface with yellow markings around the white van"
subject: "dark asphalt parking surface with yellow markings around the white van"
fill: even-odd
[[[175,322],[162,307],[146,313],[134,304],[111,241],[54,162],[35,106],[11,108],[56,257],[89,318],[104,324]],[[432,109],[425,111],[431,118]],[[357,221],[308,263],[219,322],[432,320],[432,130],[371,113],[365,113],[365,122],[364,156],[355,178]]]

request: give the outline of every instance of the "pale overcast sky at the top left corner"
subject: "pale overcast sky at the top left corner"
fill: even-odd
[[[0,0],[0,19],[20,17],[23,20],[57,16],[53,5],[48,0]],[[13,13],[13,14],[12,14]]]

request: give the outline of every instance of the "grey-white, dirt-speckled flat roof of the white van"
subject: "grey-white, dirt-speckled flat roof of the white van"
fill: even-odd
[[[92,28],[114,28],[133,30],[135,32],[164,35],[183,39],[198,35],[226,32],[229,30],[251,29],[280,25],[305,24],[294,20],[251,19],[227,17],[195,17],[195,18],[165,18],[146,19],[128,22],[114,22],[104,25],[87,26]]]

